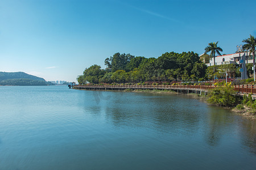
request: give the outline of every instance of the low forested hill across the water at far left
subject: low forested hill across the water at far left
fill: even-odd
[[[43,78],[24,72],[0,72],[0,86],[47,86],[53,85]]]

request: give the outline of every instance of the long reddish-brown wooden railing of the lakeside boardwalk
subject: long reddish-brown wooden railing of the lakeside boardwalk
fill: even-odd
[[[75,88],[133,88],[133,89],[159,89],[159,90],[171,90],[171,89],[197,89],[197,90],[210,90],[216,88],[217,86],[212,85],[75,85]],[[235,91],[246,93],[246,94],[256,94],[256,86],[251,84],[241,84],[233,86]]]

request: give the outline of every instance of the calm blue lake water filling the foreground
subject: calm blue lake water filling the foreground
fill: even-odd
[[[186,95],[0,87],[0,169],[255,169],[256,122]]]

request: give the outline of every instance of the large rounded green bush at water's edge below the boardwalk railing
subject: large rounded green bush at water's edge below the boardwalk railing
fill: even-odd
[[[240,101],[236,93],[231,86],[216,87],[210,91],[208,102],[223,107],[233,107]]]

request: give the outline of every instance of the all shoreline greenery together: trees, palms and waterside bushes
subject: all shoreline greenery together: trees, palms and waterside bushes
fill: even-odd
[[[166,52],[157,58],[135,57],[131,54],[115,53],[105,59],[106,69],[101,69],[99,65],[92,65],[86,68],[82,75],[77,76],[79,84],[138,84],[138,85],[210,85],[217,86],[210,90],[206,96],[209,104],[219,107],[233,108],[234,112],[255,117],[256,100],[251,95],[236,95],[233,85],[254,84],[255,82],[255,47],[256,39],[251,36],[242,40],[241,50],[238,52],[249,52],[253,58],[253,63],[242,66],[241,62],[235,64],[216,65],[216,54],[221,56],[222,48],[218,42],[210,42],[205,48],[203,57],[194,52]],[[207,53],[210,53],[209,55]],[[210,63],[213,59],[213,66],[207,67],[205,63]],[[204,61],[204,62],[203,62]],[[249,79],[236,79],[241,76],[242,67],[246,67]],[[254,69],[252,69],[254,68]],[[225,75],[224,75],[225,74]],[[225,78],[225,79],[224,79]],[[132,91],[132,90],[125,90]],[[145,92],[134,91],[134,92]],[[149,92],[146,90],[146,92]],[[158,92],[158,91],[157,91]],[[160,92],[159,92],[160,93]],[[168,92],[169,93],[169,92]]]

